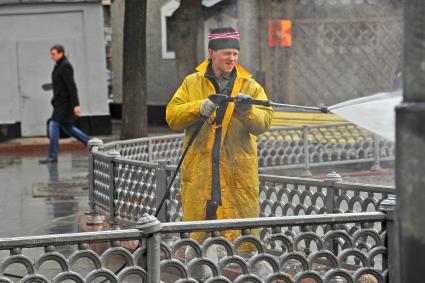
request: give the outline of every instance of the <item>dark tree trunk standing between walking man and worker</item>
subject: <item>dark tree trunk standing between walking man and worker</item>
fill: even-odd
[[[121,139],[148,134],[146,0],[125,0]]]

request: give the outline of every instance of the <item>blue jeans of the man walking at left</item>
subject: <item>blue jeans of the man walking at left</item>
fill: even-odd
[[[83,133],[80,129],[69,123],[59,123],[57,121],[50,120],[49,122],[49,157],[56,159],[58,157],[59,149],[59,130],[62,130],[70,136],[75,137],[77,140],[87,146],[90,137]]]

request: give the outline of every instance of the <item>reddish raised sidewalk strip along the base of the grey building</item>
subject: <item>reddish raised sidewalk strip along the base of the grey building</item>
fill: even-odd
[[[112,121],[112,134],[107,136],[93,136],[99,138],[103,143],[119,140],[121,121]],[[149,127],[149,136],[173,134],[167,126]],[[21,137],[0,143],[0,154],[5,153],[30,153],[47,152],[49,139],[47,137]],[[59,151],[85,151],[85,146],[74,138],[60,140]]]

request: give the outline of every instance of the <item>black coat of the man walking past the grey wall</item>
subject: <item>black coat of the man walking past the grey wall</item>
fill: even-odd
[[[80,103],[74,81],[74,69],[65,56],[55,64],[52,72],[52,87],[53,114],[51,119],[61,123],[74,123],[74,107]]]

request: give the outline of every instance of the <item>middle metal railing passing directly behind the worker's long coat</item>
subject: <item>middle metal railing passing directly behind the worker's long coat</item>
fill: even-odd
[[[164,168],[168,182],[176,166]],[[161,198],[166,196],[166,208],[160,214],[166,221],[182,219],[179,176],[168,193],[157,186]],[[392,186],[342,182],[336,173],[328,174],[325,180],[264,174],[259,177],[262,217],[377,211],[380,201],[395,197]]]

